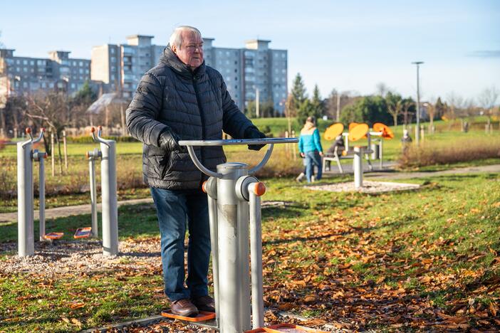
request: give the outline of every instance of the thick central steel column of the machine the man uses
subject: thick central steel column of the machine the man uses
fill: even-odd
[[[248,228],[249,216],[242,216],[239,200],[235,194],[236,180],[248,174],[248,167],[242,163],[226,163],[217,166],[217,173],[222,178],[217,179],[217,216],[219,245],[219,277],[224,277],[226,283],[219,284],[219,317],[220,332],[233,333],[249,330],[250,306],[249,299],[244,300],[242,288],[248,290],[249,285],[243,285],[249,277],[249,253],[241,253],[240,243],[247,243],[241,232]],[[247,211],[248,212],[248,211]],[[240,218],[240,219],[239,219]],[[246,232],[248,235],[248,231]],[[248,245],[247,245],[248,247]],[[246,258],[246,260],[244,260]],[[245,278],[246,277],[246,278]],[[248,295],[246,292],[245,295]]]

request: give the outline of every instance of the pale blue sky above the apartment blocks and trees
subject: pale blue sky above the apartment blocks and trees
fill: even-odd
[[[300,72],[311,93],[335,88],[375,93],[385,83],[416,94],[422,60],[424,99],[449,93],[475,98],[500,89],[500,1],[2,1],[0,41],[17,56],[52,50],[90,58],[92,46],[197,26],[214,46],[251,38],[288,50],[288,88]],[[499,102],[499,101],[497,101]]]

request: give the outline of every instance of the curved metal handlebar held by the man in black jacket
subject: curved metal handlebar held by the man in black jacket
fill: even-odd
[[[272,139],[229,139],[229,140],[181,140],[179,141],[179,146],[186,146],[187,152],[189,153],[189,157],[191,157],[193,163],[197,168],[202,171],[207,176],[212,176],[215,178],[222,178],[222,174],[211,171],[207,169],[201,162],[199,162],[198,157],[194,154],[193,147],[213,147],[213,146],[229,146],[234,144],[269,144],[269,148],[267,149],[264,158],[259,164],[254,166],[252,169],[249,169],[249,175],[255,174],[259,171],[271,157],[271,153],[273,152],[274,144],[280,143],[296,143],[298,142],[298,138],[296,137],[276,137]]]

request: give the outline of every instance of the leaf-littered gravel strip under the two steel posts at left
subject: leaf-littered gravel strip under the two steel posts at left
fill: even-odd
[[[20,258],[16,243],[0,244],[0,253],[7,252],[0,260],[1,273],[36,273],[53,276],[82,273],[95,270],[137,270],[157,268],[161,270],[160,238],[120,241],[120,253],[103,255],[100,240],[58,240],[54,243],[36,242],[35,255]]]

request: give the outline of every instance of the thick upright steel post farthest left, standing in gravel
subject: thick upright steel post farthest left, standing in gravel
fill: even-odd
[[[31,147],[33,147],[31,141],[17,144],[17,237],[19,257],[35,254]]]

